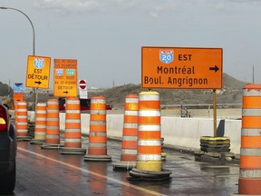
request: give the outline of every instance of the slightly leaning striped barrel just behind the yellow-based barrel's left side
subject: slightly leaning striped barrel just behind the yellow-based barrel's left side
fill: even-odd
[[[132,169],[137,160],[139,96],[129,94],[125,97],[124,119],[121,141],[121,162],[113,167]]]

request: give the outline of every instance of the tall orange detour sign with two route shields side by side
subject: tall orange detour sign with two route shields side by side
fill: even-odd
[[[77,60],[54,59],[53,95],[77,97]]]

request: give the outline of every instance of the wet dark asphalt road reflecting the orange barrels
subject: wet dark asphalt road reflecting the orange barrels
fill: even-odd
[[[87,143],[82,144],[86,148]],[[120,161],[121,142],[108,141],[111,162],[86,162],[84,155],[64,155],[18,142],[17,177],[13,196],[57,195],[217,195],[237,193],[238,164],[195,161],[193,154],[164,150],[163,168],[169,181],[129,181],[127,170],[113,171]]]

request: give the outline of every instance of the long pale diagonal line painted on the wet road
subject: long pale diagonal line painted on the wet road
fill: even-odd
[[[111,178],[111,177],[102,175],[102,174],[100,174],[100,173],[93,172],[93,171],[89,171],[89,170],[85,170],[85,169],[82,169],[82,168],[77,167],[77,166],[75,166],[75,165],[68,164],[68,163],[66,163],[66,162],[60,162],[60,161],[55,160],[55,159],[52,159],[52,158],[50,158],[50,157],[43,156],[43,154],[39,154],[39,153],[36,153],[36,152],[27,151],[27,150],[25,150],[25,149],[23,149],[23,148],[21,148],[21,147],[17,147],[17,149],[18,149],[19,151],[22,151],[22,152],[27,152],[27,153],[34,154],[35,156],[41,157],[41,158],[43,158],[43,159],[45,159],[45,160],[49,160],[49,161],[51,161],[51,162],[56,162],[56,163],[62,164],[62,165],[64,165],[64,166],[73,168],[73,169],[75,169],[75,170],[79,170],[79,171],[83,171],[83,172],[86,172],[86,173],[90,173],[90,174],[92,174],[92,175],[98,176],[98,177],[100,177],[100,178],[103,178],[103,179],[106,179],[106,180],[109,180],[109,181],[114,181],[114,182],[116,182],[116,183],[119,183],[119,184],[124,185],[124,186],[127,186],[127,187],[131,187],[131,188],[136,189],[136,190],[139,190],[139,191],[144,191],[144,192],[150,193],[150,194],[152,194],[152,195],[165,196],[164,194],[161,194],[161,193],[159,193],[159,192],[150,191],[150,190],[144,189],[144,188],[142,188],[142,187],[135,186],[135,185],[132,185],[132,184],[130,184],[130,183],[126,183],[126,182],[124,182],[124,181],[118,181],[118,180],[116,180],[116,179],[113,179],[113,178]],[[166,196],[167,196],[167,195],[166,195]]]

